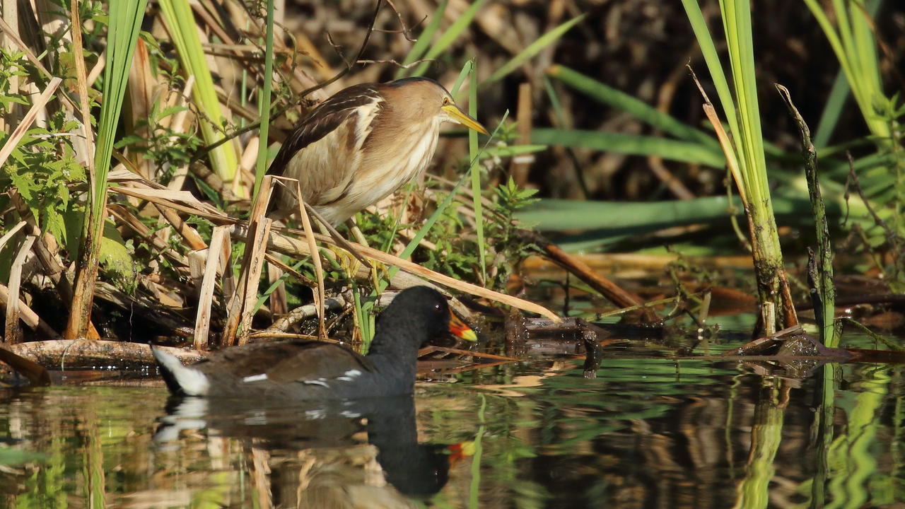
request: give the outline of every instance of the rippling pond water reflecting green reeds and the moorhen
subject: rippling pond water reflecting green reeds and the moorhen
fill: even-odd
[[[788,379],[738,361],[635,348],[608,352],[595,379],[580,359],[531,360],[419,384],[414,401],[333,407],[212,406],[168,399],[159,384],[8,391],[0,506],[805,508],[905,500],[902,366],[830,364]]]

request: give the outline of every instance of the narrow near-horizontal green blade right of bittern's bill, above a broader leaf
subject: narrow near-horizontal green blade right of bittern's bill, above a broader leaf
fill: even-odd
[[[723,168],[726,158],[719,149],[700,143],[665,139],[653,136],[636,136],[595,130],[536,129],[531,131],[531,143],[607,150],[634,156],[659,156],[675,161],[703,164]]]

